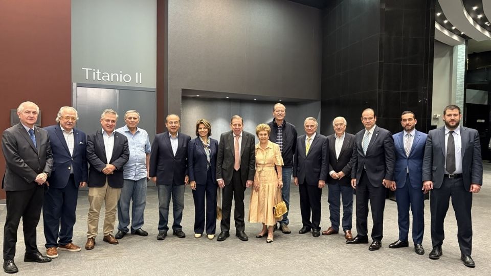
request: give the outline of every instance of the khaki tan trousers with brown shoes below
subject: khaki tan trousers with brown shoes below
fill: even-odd
[[[110,187],[107,183],[102,187],[88,188],[87,238],[95,238],[99,227],[99,216],[102,203],[105,205],[104,236],[113,234],[116,222],[116,206],[121,188]]]

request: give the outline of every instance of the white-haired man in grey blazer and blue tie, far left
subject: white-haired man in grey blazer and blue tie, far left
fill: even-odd
[[[25,262],[50,262],[36,245],[36,226],[41,215],[44,182],[51,173],[53,155],[50,138],[44,129],[35,127],[39,107],[23,102],[17,108],[20,123],[2,134],[5,175],[2,188],[7,194],[7,217],[4,226],[4,271],[16,273],[14,263],[17,228],[23,221],[26,244]]]

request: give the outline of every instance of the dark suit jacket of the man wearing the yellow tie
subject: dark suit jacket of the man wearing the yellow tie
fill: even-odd
[[[327,180],[329,168],[329,144],[326,136],[317,133],[310,143],[305,156],[305,135],[297,138],[297,150],[293,158],[293,177],[298,178],[299,185],[318,186],[319,180]]]

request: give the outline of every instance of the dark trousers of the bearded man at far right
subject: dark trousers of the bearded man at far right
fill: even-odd
[[[443,220],[449,210],[449,201],[452,197],[452,206],[457,219],[457,239],[460,252],[465,255],[472,253],[472,193],[464,189],[462,178],[443,178],[439,189],[430,193],[431,213],[431,242],[433,247],[441,245],[445,234]]]

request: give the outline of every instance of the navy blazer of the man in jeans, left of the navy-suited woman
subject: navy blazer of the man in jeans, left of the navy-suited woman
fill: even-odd
[[[184,185],[188,175],[188,144],[191,137],[177,134],[177,151],[172,152],[169,132],[155,135],[150,152],[150,177],[157,176],[157,185]]]

